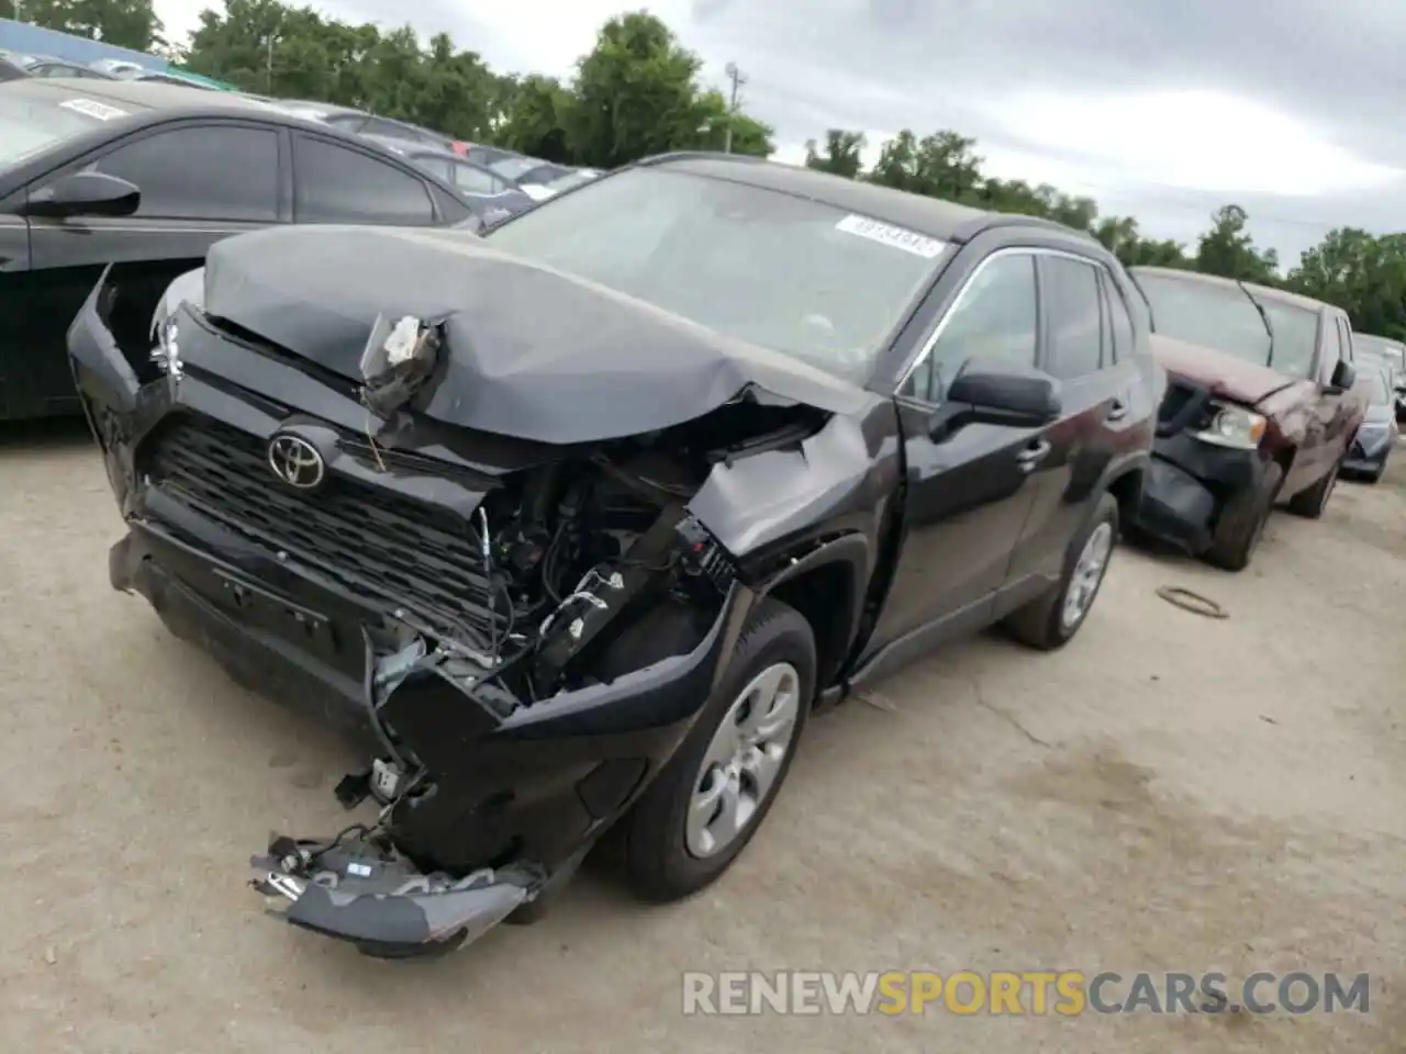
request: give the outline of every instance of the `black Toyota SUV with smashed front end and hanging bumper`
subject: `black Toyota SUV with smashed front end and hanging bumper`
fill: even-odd
[[[368,954],[537,913],[607,831],[721,874],[807,717],[1004,621],[1057,648],[1139,496],[1161,379],[1054,223],[671,155],[496,228],[211,249],[150,346],[69,334],[112,585],[374,759],[374,822],[256,887]]]

